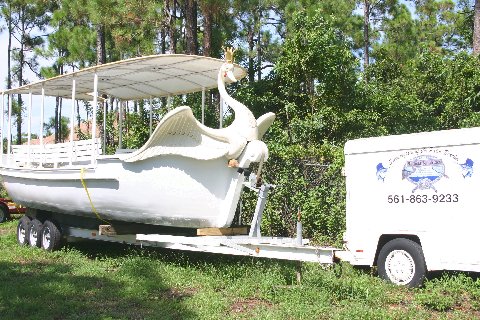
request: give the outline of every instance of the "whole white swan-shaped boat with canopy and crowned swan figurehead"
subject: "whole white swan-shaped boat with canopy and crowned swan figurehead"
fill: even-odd
[[[0,175],[9,196],[37,211],[104,221],[184,228],[230,226],[249,180],[242,172],[253,163],[261,168],[268,158],[261,138],[275,115],[267,113],[256,119],[227,93],[225,85],[243,78],[246,72],[233,63],[230,48],[225,58],[139,57],[3,91],[0,143],[4,150],[6,138],[7,152],[1,157]],[[216,87],[235,115],[225,128],[204,126],[189,107],[182,106],[169,111],[138,150],[102,154],[102,143],[95,138],[95,117],[91,126],[94,138],[73,140],[76,100],[91,101],[96,114],[105,96],[130,101]],[[26,145],[12,145],[10,138],[14,94],[28,95]],[[10,99],[6,99],[8,95]],[[40,145],[31,144],[32,95],[41,96],[42,127],[46,96],[71,100],[70,141],[44,144],[40,137]],[[4,116],[5,107],[8,116]]]

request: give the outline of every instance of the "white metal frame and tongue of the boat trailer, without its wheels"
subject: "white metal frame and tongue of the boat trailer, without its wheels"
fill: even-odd
[[[221,236],[183,236],[166,234],[126,234],[116,235],[99,230],[76,227],[63,228],[64,236],[108,242],[118,242],[149,247],[161,247],[173,250],[209,252],[226,255],[252,256],[280,260],[293,260],[332,264],[335,252],[339,249],[309,245],[308,239],[303,239],[301,223],[297,223],[297,237],[264,237],[261,235],[260,224],[267,196],[274,186],[262,184],[249,189],[258,193],[257,205],[253,215],[248,235]]]

